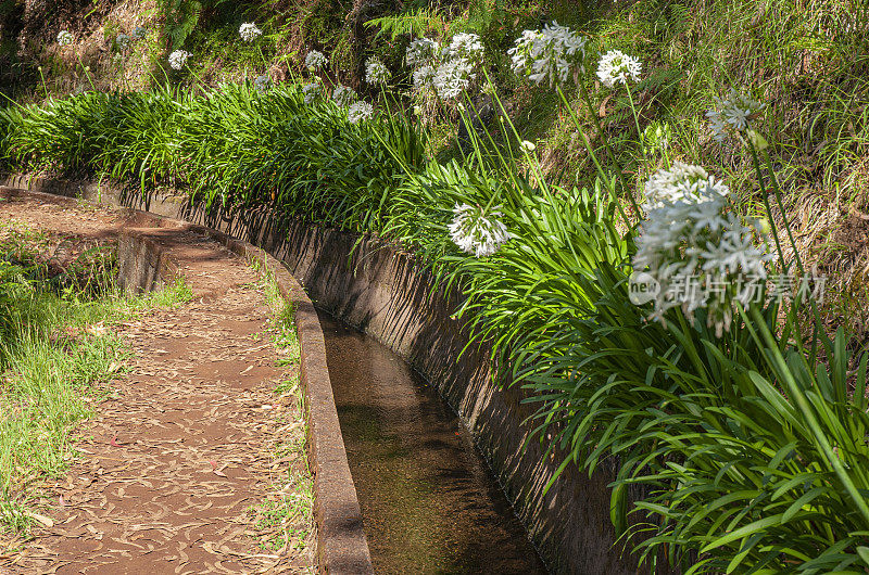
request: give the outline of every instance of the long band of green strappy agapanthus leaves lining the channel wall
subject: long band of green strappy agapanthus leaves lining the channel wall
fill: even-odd
[[[150,108],[165,114],[156,128],[124,119]],[[66,126],[83,136],[67,138]],[[401,114],[351,124],[330,101],[305,105],[297,86],[88,93],[23,111],[9,129],[14,162],[138,181],[162,174],[206,202],[272,206],[416,248],[461,286],[458,311],[505,382],[533,392],[538,433],[552,434],[562,469],[593,472],[618,456],[613,520],[628,534],[651,531],[635,539],[645,560],[666,547],[689,571],[866,561],[866,356],[844,333],[810,343],[799,310],[774,299],[723,334],[702,312],[646,321],[627,292],[637,229],[613,195],[630,182],[602,171],[593,187],[558,187],[528,150],[499,155],[480,141],[464,164],[427,161],[425,137]],[[155,150],[176,154],[161,164]],[[454,206],[493,200],[511,241],[491,257],[463,254],[448,233]],[[630,502],[630,485],[650,489]],[[631,509],[643,514],[630,520]]]

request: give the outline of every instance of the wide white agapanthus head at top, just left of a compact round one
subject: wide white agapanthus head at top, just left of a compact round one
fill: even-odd
[[[553,22],[542,30],[525,30],[507,50],[513,72],[550,86],[567,80],[575,66],[584,69],[585,38]]]

